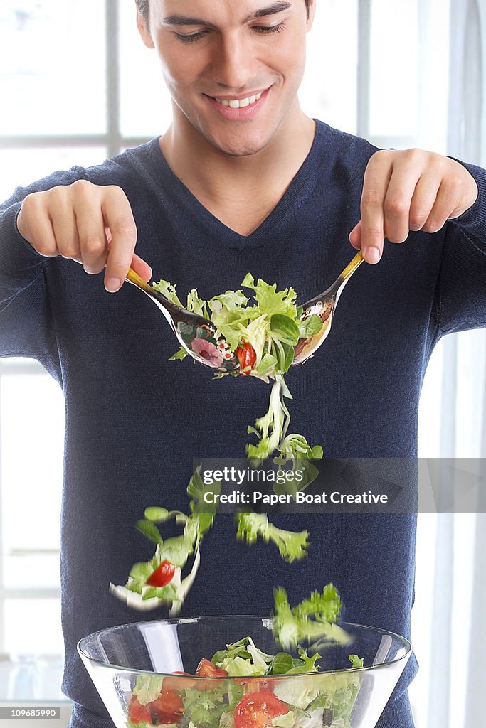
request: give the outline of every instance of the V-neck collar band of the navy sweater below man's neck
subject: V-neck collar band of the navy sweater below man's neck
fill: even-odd
[[[307,157],[305,157],[297,174],[273,210],[249,235],[241,235],[225,225],[195,197],[195,194],[192,194],[189,188],[173,173],[173,170],[168,165],[160,149],[160,137],[153,139],[151,143],[153,147],[151,150],[153,153],[152,159],[155,159],[158,167],[157,177],[160,179],[162,170],[165,193],[169,194],[181,208],[182,215],[187,215],[191,218],[196,226],[205,229],[205,232],[210,234],[216,241],[220,241],[222,244],[229,245],[232,248],[262,245],[269,233],[275,235],[288,223],[289,219],[302,205],[304,199],[312,193],[315,184],[321,177],[321,165],[317,163],[317,160],[321,157],[326,132],[329,130],[329,127],[327,124],[319,122],[316,119],[314,121],[315,135]]]

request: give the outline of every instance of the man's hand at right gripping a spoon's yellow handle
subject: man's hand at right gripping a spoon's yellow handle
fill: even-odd
[[[410,230],[437,232],[477,199],[474,177],[455,159],[422,149],[383,149],[369,159],[361,220],[350,232],[353,248],[377,263],[385,237],[404,242]]]

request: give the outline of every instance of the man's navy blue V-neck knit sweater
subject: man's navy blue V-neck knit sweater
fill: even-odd
[[[211,371],[169,362],[176,339],[135,288],[106,293],[100,276],[63,258],[42,258],[17,232],[32,191],[80,178],[119,185],[133,207],[138,253],[154,280],[197,286],[211,298],[255,277],[315,296],[353,256],[364,169],[375,148],[318,122],[315,142],[289,189],[248,237],[217,220],[179,181],[157,139],[98,167],[74,167],[17,189],[0,216],[0,355],[39,360],[66,397],[61,521],[63,690],[76,705],[72,728],[109,728],[75,649],[82,636],[154,618],[109,594],[130,566],[152,555],[133,529],[146,505],[187,507],[194,456],[244,456],[246,427],[267,411],[269,388],[251,377],[213,381]],[[477,202],[436,234],[387,245],[383,261],[348,284],[332,333],[317,356],[289,373],[291,428],[328,456],[414,457],[418,400],[434,345],[445,333],[486,323],[486,172]],[[339,588],[350,622],[409,636],[415,515],[278,515],[309,529],[309,556],[288,565],[271,545],[234,538],[219,516],[203,545],[200,573],[182,615],[262,614],[272,587],[297,603],[327,582]],[[271,579],[268,575],[271,574]],[[444,597],[447,598],[447,597]],[[156,616],[156,615],[155,615]],[[160,616],[163,616],[160,614]],[[380,719],[411,728],[405,689],[415,658]]]

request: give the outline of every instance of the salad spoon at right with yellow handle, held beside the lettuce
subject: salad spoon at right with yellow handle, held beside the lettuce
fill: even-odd
[[[307,301],[307,304],[304,304],[301,320],[317,314],[321,317],[323,326],[321,331],[315,333],[314,336],[309,336],[308,339],[299,339],[294,347],[294,361],[292,365],[303,364],[307,359],[310,359],[321,346],[324,339],[326,339],[326,336],[329,335],[334,318],[334,311],[336,310],[337,301],[339,301],[342,289],[363,261],[363,253],[360,250],[334,281],[332,286],[325,290],[324,293],[319,293],[315,298],[311,298],[310,301]]]

